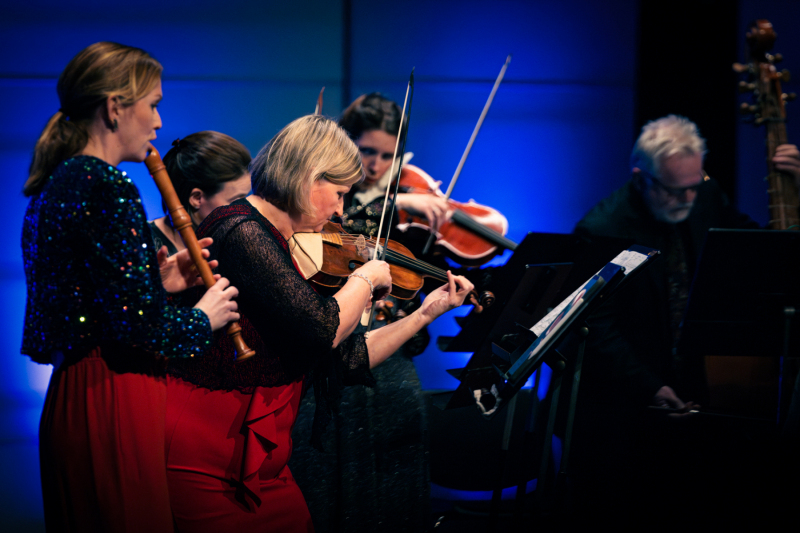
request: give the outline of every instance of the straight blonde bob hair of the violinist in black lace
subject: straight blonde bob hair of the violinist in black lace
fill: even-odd
[[[364,172],[361,154],[347,133],[320,115],[283,128],[250,164],[253,193],[288,213],[313,215],[311,185],[322,178],[353,185]]]

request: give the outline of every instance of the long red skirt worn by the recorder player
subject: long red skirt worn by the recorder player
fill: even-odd
[[[174,531],[164,453],[166,379],[155,361],[136,369],[126,364],[106,361],[96,348],[50,378],[39,426],[49,531]]]

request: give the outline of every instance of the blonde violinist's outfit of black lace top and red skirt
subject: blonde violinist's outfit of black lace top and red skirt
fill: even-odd
[[[170,361],[167,476],[177,529],[313,531],[286,466],[303,380],[312,376],[319,435],[342,387],[372,382],[366,340],[351,335],[333,347],[336,299],[308,284],[286,240],[247,200],[215,209],[197,233],[213,237],[217,272],[239,289],[242,338],[256,355],[236,362],[220,331],[203,357]]]

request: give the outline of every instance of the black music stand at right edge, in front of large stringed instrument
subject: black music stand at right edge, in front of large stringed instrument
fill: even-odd
[[[798,264],[800,232],[709,230],[677,353],[800,356]],[[781,383],[779,421],[793,386],[793,379]]]

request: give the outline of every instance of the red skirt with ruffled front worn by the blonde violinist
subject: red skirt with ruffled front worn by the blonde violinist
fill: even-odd
[[[180,532],[314,530],[286,463],[302,381],[253,394],[167,378],[167,478]]]

